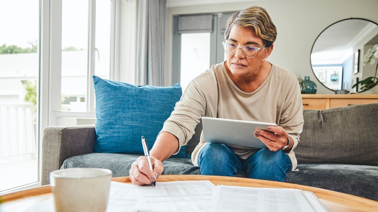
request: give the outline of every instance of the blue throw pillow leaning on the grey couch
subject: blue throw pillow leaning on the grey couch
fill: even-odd
[[[96,94],[95,152],[143,155],[141,137],[149,148],[181,98],[181,86],[135,86],[93,76]],[[182,146],[172,157],[190,157]]]

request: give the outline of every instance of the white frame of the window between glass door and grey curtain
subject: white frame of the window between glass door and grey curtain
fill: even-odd
[[[43,0],[44,1],[44,0]],[[110,44],[110,79],[116,80],[116,64],[118,63],[118,51],[115,49],[115,38],[118,34],[119,27],[116,25],[119,19],[119,0],[111,0],[112,17],[111,17],[111,44]],[[61,93],[61,74],[62,74],[62,0],[50,2],[50,66],[48,86],[49,96],[49,113],[48,125],[57,125],[58,118],[75,117],[75,118],[95,118],[95,91],[93,89],[92,75],[95,74],[95,30],[96,30],[96,0],[89,0],[89,37],[88,37],[88,69],[87,69],[87,111],[86,112],[62,112],[60,111],[60,93]],[[118,49],[117,49],[118,50]]]

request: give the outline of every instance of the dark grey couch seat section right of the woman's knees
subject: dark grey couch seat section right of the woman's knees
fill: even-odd
[[[286,183],[334,190],[378,201],[378,167],[346,164],[298,164]]]

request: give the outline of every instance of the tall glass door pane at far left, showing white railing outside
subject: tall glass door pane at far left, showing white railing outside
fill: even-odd
[[[38,181],[39,0],[0,1],[0,8],[1,192]]]

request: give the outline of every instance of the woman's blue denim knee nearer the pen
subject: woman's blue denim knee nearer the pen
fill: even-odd
[[[198,154],[198,166],[202,175],[235,176],[241,163],[226,145],[208,143]]]

